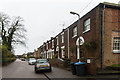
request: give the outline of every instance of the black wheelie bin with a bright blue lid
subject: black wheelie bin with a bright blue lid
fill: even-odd
[[[74,65],[76,67],[76,75],[85,76],[86,74],[86,62],[76,62]]]

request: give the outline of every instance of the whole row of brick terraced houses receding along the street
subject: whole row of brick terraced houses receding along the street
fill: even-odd
[[[83,45],[79,45],[81,39]],[[98,69],[120,64],[119,4],[100,3],[38,50],[41,58],[89,60]]]

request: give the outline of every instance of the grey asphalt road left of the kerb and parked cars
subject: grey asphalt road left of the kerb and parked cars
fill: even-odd
[[[26,61],[17,59],[14,63],[2,68],[2,78],[46,78],[45,75],[36,74],[34,66]]]

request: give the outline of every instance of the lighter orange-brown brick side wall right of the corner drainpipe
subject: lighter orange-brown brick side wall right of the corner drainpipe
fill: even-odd
[[[120,11],[119,11],[120,12]],[[118,64],[120,53],[113,53],[113,36],[120,31],[119,14],[117,9],[105,8],[104,20],[104,66]],[[120,33],[120,32],[119,32]]]

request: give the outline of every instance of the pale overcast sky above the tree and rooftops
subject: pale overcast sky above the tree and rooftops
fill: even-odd
[[[118,3],[119,0],[0,0],[0,12],[24,19],[27,47],[16,46],[15,54],[18,55],[33,52],[75,22],[78,17],[70,11],[82,17],[100,2]]]

